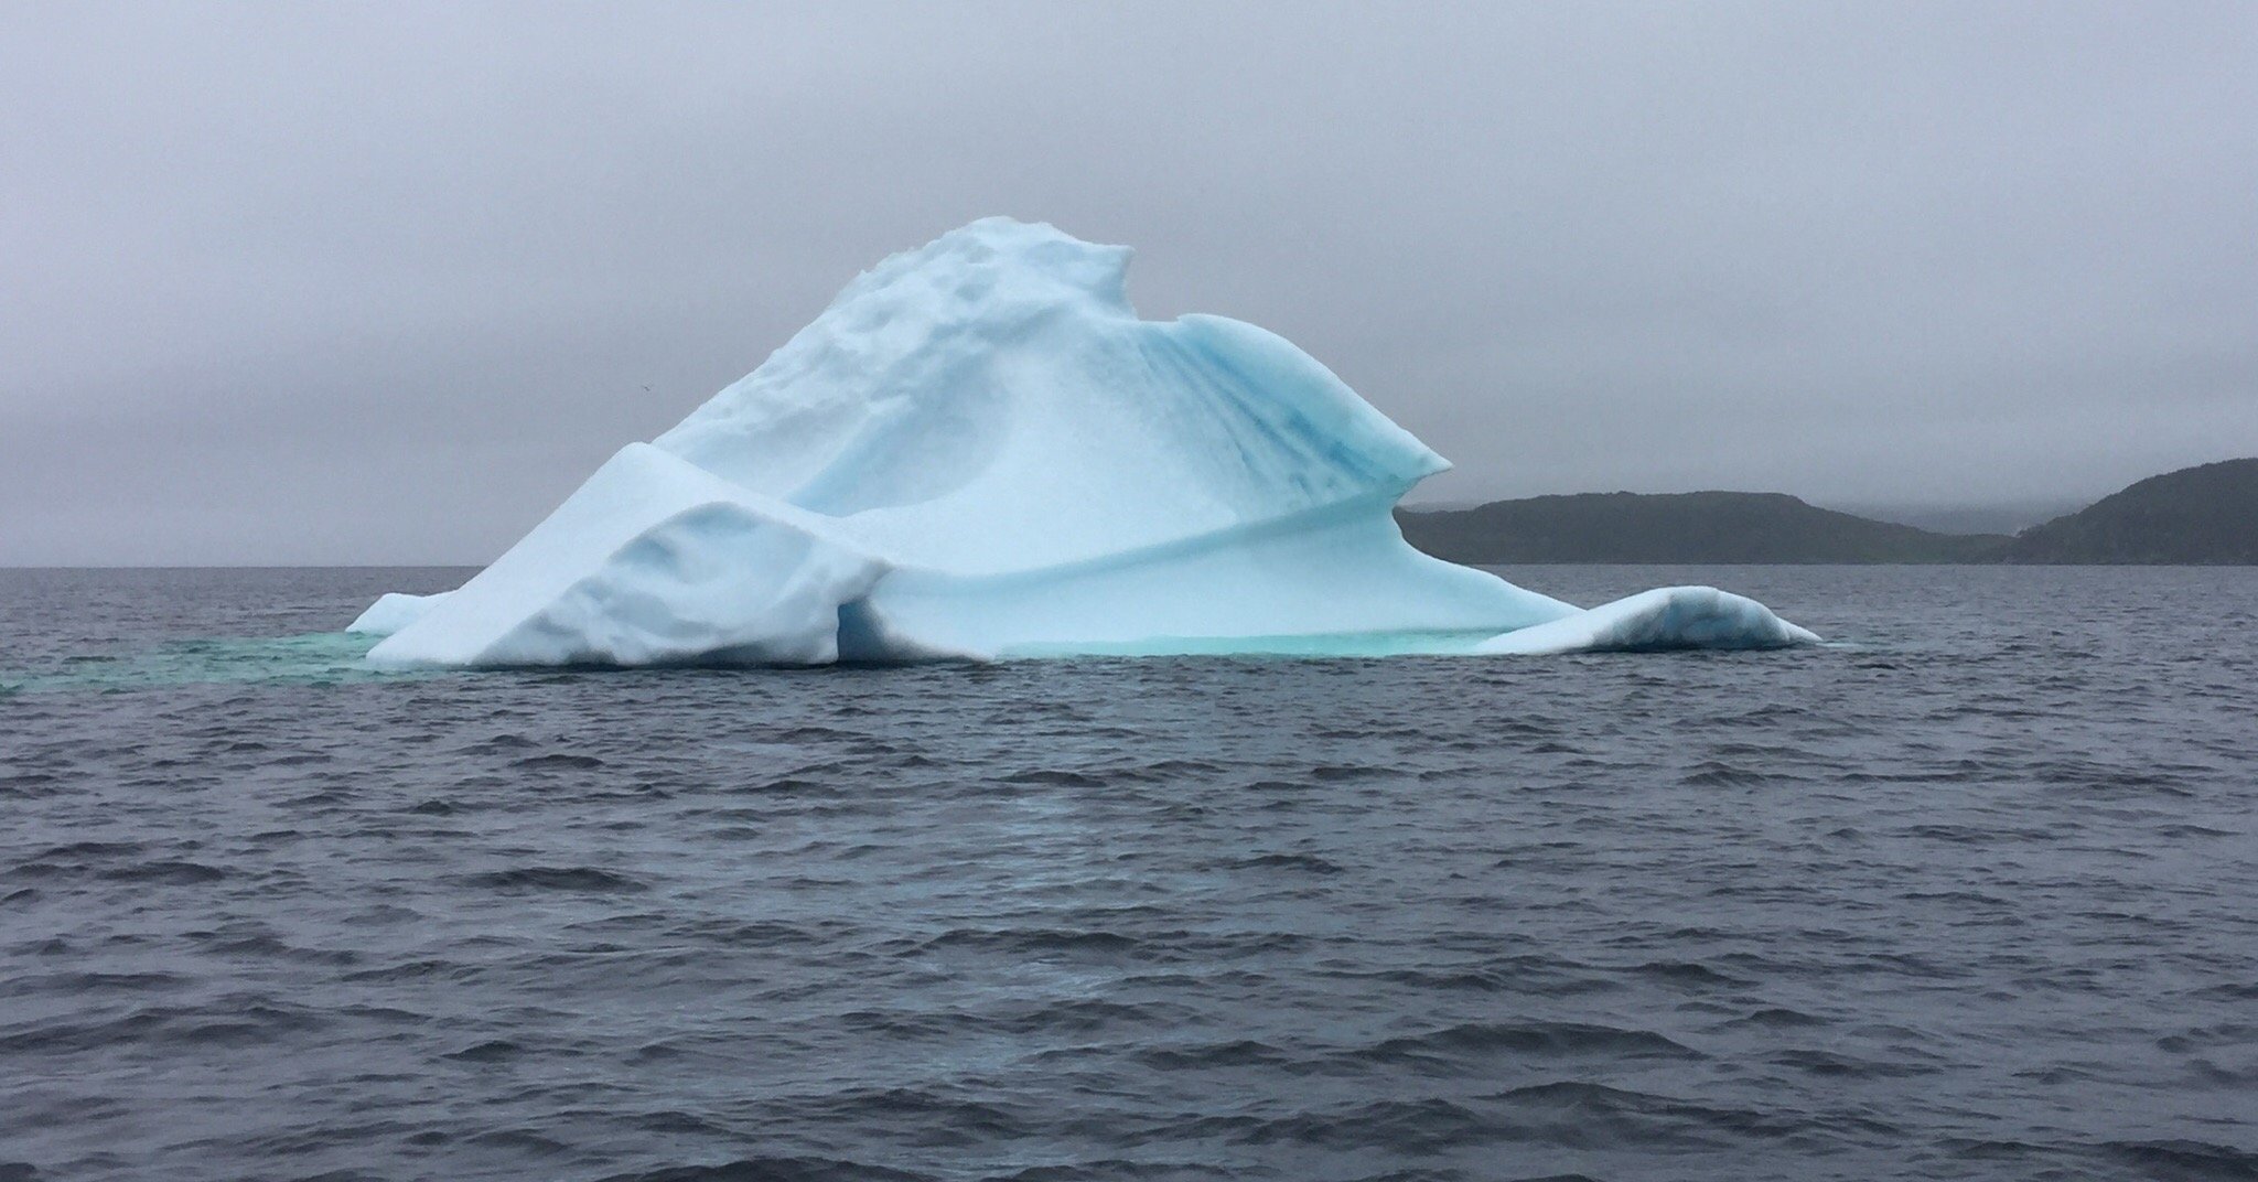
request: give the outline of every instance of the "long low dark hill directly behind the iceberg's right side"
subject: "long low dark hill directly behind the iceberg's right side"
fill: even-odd
[[[1404,540],[1452,563],[1985,563],[2005,536],[1931,533],[1786,493],[1581,493],[1400,509]]]

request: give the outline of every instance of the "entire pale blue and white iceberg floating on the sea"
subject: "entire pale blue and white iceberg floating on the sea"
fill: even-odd
[[[350,631],[393,667],[1815,640],[1709,588],[1581,610],[1411,549],[1391,511],[1443,457],[1283,337],[1138,319],[1127,267],[1012,219],[892,255],[474,579]]]

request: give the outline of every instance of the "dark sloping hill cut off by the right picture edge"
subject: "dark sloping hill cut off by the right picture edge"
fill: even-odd
[[[2030,527],[2007,563],[2258,563],[2258,459],[2147,477],[2077,513]]]

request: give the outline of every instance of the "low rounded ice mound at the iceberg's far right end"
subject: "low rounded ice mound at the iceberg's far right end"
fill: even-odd
[[[1818,644],[1745,594],[1716,588],[1655,588],[1576,615],[1504,633],[1477,653],[1657,653],[1669,649],[1786,649]]]

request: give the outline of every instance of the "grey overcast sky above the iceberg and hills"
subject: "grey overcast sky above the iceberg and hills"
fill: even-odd
[[[1427,499],[2258,454],[2258,5],[802,9],[0,0],[0,563],[488,560],[991,212]]]

